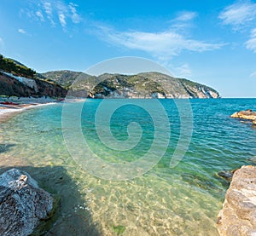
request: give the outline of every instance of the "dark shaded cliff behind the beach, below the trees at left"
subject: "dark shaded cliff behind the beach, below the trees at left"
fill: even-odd
[[[0,72],[0,95],[65,97],[67,90],[60,85],[33,78],[16,77]]]

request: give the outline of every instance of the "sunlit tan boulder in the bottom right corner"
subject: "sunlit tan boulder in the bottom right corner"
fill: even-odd
[[[223,209],[218,213],[221,236],[256,235],[256,166],[236,170]]]

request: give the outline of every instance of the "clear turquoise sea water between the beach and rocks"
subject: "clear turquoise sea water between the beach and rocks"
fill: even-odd
[[[111,110],[120,101],[104,102],[105,108]],[[152,100],[137,101],[140,106],[130,104],[130,101],[122,102],[124,106],[113,112],[108,126],[113,139],[109,138],[107,142],[116,141],[118,145],[114,148],[99,138],[101,132],[108,131],[105,130],[104,112],[98,114],[100,118],[97,127],[95,125],[101,100],[86,101],[79,117],[81,134],[87,143],[86,152],[80,152],[82,147],[76,140],[79,135],[69,132],[78,128],[73,123],[75,119],[61,117],[62,104],[34,108],[0,124],[2,168],[23,166],[41,186],[62,196],[57,219],[49,224],[48,234],[45,234],[65,235],[61,232],[67,233],[67,228],[73,227],[68,235],[86,235],[84,232],[87,231],[88,235],[116,235],[116,227],[120,226],[122,235],[218,235],[216,219],[228,183],[216,173],[253,164],[256,159],[256,129],[250,123],[230,118],[230,114],[248,108],[256,110],[256,100],[189,100],[193,111],[192,137],[187,152],[174,168],[170,168],[170,161],[183,124],[175,101],[159,101],[165,108],[166,117],[154,108]],[[81,105],[68,103],[65,109],[79,111]],[[142,108],[150,106],[159,115],[152,117]],[[187,112],[189,114],[189,110]],[[166,126],[166,118],[171,131]],[[68,125],[61,127],[61,119]],[[184,120],[186,123],[186,118]],[[140,124],[140,128],[130,127],[129,133],[127,126],[134,122]],[[156,155],[165,154],[142,176],[132,178],[134,173],[131,173],[131,179],[114,181],[119,176],[118,170],[107,171],[105,165],[96,166],[96,170],[91,170],[93,165],[90,170],[84,166],[83,158],[90,158],[87,150],[107,164],[128,166],[135,163],[152,147],[156,139],[156,123],[160,124],[156,146],[159,150],[154,148],[153,151]],[[67,134],[66,140],[63,134]],[[137,136],[140,139],[131,145],[131,149],[121,148],[127,139],[135,140]],[[164,145],[166,136],[167,147]],[[69,144],[66,146],[65,142]],[[77,153],[79,158],[74,160],[67,149]],[[137,168],[143,169],[141,166]],[[91,175],[98,170],[106,178]],[[67,177],[62,181],[61,176],[60,181],[58,178],[64,175],[63,171]]]

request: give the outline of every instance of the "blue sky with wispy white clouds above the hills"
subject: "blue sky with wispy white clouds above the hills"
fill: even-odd
[[[37,72],[140,57],[222,97],[255,97],[256,0],[1,0],[0,54]]]

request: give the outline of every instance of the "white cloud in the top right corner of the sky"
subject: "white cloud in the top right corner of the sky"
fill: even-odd
[[[224,9],[218,18],[223,20],[224,25],[231,25],[235,30],[255,20],[256,3],[250,1],[239,1]]]

